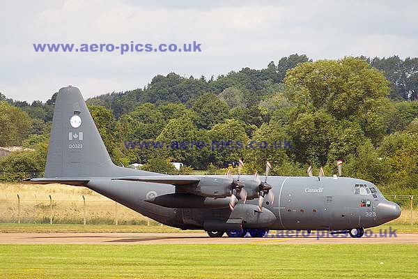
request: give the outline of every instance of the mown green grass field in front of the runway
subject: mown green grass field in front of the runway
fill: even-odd
[[[415,245],[1,245],[1,278],[417,278]],[[402,266],[402,268],[400,268]]]

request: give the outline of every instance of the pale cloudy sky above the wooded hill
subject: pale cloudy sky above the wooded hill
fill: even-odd
[[[418,56],[417,1],[2,1],[0,92],[49,99],[142,88],[175,72],[210,78],[290,54]],[[192,43],[201,52],[35,52],[36,43]]]

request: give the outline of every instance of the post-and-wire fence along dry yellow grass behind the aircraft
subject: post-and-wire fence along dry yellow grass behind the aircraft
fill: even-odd
[[[0,199],[0,223],[158,225],[109,199],[98,200],[91,195],[70,200],[62,199],[62,195],[57,197],[61,199],[54,199],[54,195],[49,195],[49,199],[24,199],[22,194],[17,194],[14,199],[10,196]],[[387,199],[404,204],[399,222],[411,225],[418,222],[413,195],[392,195]]]

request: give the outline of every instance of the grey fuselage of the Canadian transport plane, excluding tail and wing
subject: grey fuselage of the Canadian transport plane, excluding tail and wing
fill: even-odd
[[[241,176],[244,181],[251,178]],[[350,229],[375,227],[398,218],[401,213],[399,206],[387,201],[373,183],[361,179],[269,176],[268,182],[276,198],[273,204],[265,202],[261,213],[256,211],[258,199],[247,200],[245,204],[238,202],[233,212],[228,208],[172,209],[145,202],[150,194],[176,193],[176,187],[167,184],[101,178],[92,179],[87,186],[159,223],[181,229],[208,230],[211,227],[206,224],[211,224],[210,221],[226,223],[234,218],[242,218],[244,228]],[[373,193],[355,195],[356,184],[376,189],[375,197]],[[367,201],[367,206],[361,206]]]

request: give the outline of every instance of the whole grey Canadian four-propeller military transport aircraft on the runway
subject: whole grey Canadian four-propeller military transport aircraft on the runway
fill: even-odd
[[[242,162],[240,162],[242,167]],[[180,176],[118,167],[77,87],[56,96],[45,178],[84,186],[144,216],[211,237],[263,237],[269,229],[327,229],[361,237],[401,209],[368,181],[326,176]],[[274,194],[273,194],[274,191]],[[274,198],[277,196],[276,198]]]

